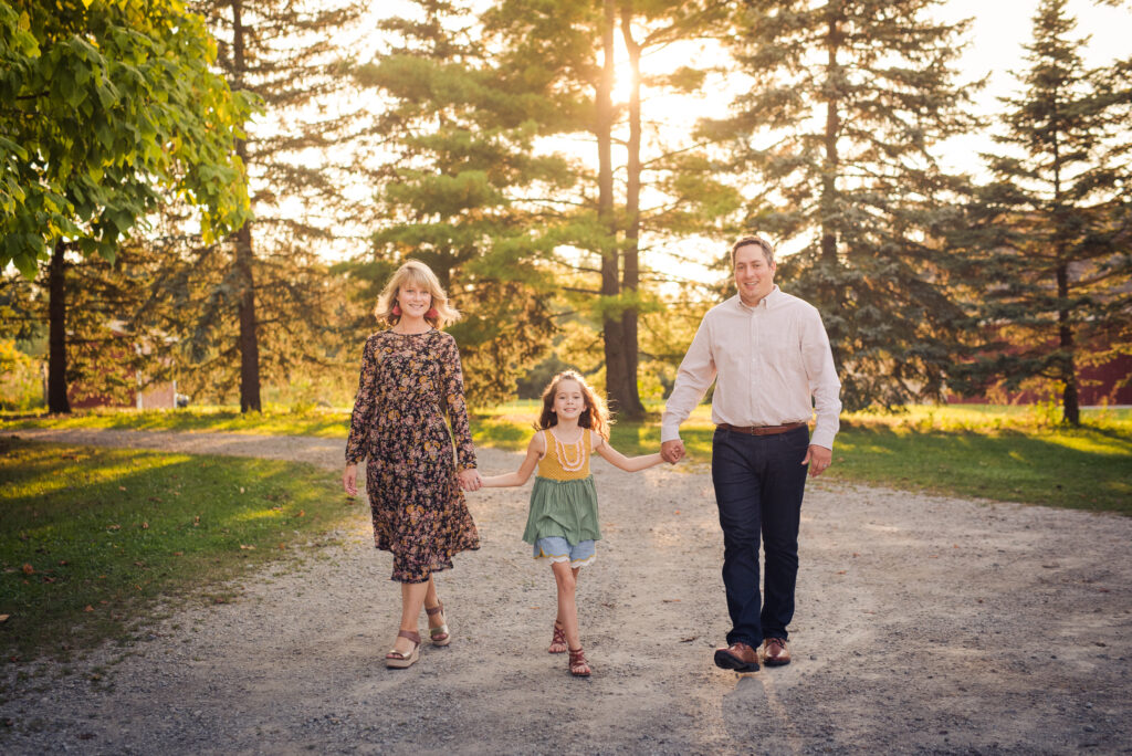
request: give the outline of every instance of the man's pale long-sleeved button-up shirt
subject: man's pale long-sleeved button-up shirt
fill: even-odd
[[[715,424],[783,426],[809,422],[816,412],[809,443],[833,448],[841,381],[822,317],[808,302],[774,286],[755,307],[735,295],[709,310],[664,405],[661,441],[680,437],[680,423],[713,380]]]

